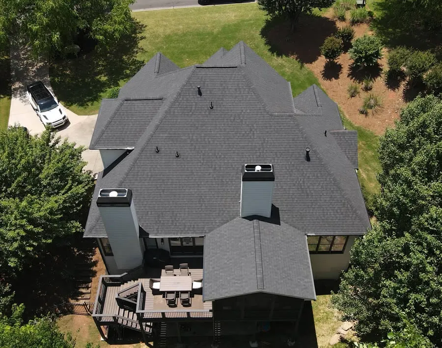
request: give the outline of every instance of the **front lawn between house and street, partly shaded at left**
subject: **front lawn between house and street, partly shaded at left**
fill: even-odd
[[[203,63],[221,47],[230,50],[240,40],[291,82],[294,95],[318,83],[295,59],[269,51],[260,35],[267,16],[256,3],[135,12],[133,17],[140,25],[138,41],[126,40],[132,47],[119,47],[110,55],[92,51],[77,59],[52,62],[55,95],[73,112],[97,113],[106,92],[124,84],[158,51],[179,67],[187,67]]]

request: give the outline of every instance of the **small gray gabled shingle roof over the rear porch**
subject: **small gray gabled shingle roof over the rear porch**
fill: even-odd
[[[304,233],[252,219],[234,219],[206,237],[203,299],[256,292],[316,299]]]

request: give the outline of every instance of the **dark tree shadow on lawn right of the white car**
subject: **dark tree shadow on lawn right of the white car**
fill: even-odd
[[[134,20],[134,30],[107,50],[80,52],[74,59],[55,59],[50,65],[55,95],[66,106],[86,106],[102,99],[108,88],[135,75],[144,62],[137,58],[144,25]]]

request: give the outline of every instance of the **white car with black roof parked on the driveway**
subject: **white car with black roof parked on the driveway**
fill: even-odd
[[[43,82],[29,84],[27,93],[30,104],[45,126],[56,128],[68,121],[66,112]]]

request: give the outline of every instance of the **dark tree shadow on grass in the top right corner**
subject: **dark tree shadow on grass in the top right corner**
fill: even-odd
[[[398,11],[391,1],[375,1],[371,6],[382,14],[373,19],[371,26],[387,46],[428,50],[442,45],[442,30],[429,30],[415,13]]]

